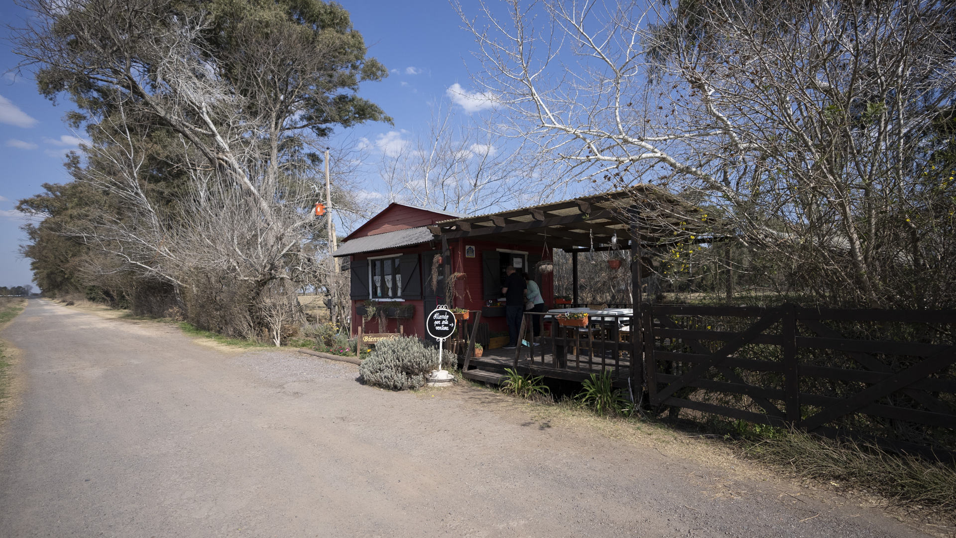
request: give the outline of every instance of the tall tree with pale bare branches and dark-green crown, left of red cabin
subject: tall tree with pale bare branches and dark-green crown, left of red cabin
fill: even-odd
[[[276,323],[299,312],[290,294],[328,279],[311,149],[331,125],[389,120],[337,93],[385,73],[348,13],[321,2],[296,17],[279,3],[272,18],[249,2],[28,7],[36,17],[17,52],[42,91],[67,90],[87,113],[75,120],[92,142],[73,173],[104,204],[62,233],[118,261],[93,271],[168,283],[201,325],[247,336],[265,325],[276,338]],[[161,192],[157,175],[173,187]],[[338,214],[361,213],[352,196],[334,198]]]

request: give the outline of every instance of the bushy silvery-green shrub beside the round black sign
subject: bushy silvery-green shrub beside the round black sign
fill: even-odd
[[[424,386],[431,370],[438,370],[438,349],[418,338],[383,340],[359,366],[362,383],[406,391]]]

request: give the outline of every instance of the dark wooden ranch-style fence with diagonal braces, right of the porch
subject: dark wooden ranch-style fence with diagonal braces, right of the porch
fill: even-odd
[[[952,458],[956,311],[643,304],[651,405]]]

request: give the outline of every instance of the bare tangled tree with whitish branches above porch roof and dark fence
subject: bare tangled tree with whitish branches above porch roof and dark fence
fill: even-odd
[[[503,133],[580,178],[712,208],[781,293],[956,299],[938,269],[953,254],[947,4],[509,6],[459,7]]]

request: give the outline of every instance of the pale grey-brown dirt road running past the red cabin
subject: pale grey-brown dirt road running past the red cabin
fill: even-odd
[[[2,336],[23,381],[0,434],[2,538],[923,536],[481,389],[379,391],[352,365],[43,300]]]

